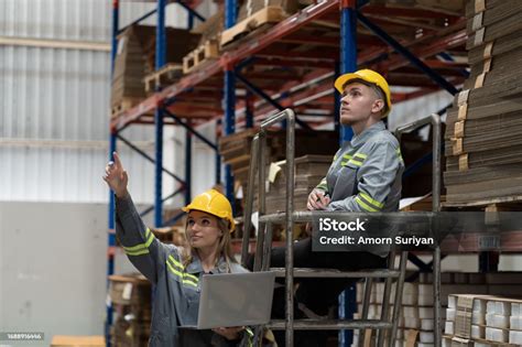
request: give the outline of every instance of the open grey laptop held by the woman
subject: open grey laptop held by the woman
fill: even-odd
[[[275,272],[219,273],[203,276],[197,326],[211,329],[262,325],[270,321]]]

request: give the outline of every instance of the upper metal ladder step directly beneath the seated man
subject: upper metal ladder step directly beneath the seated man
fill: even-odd
[[[270,268],[270,271],[275,272],[275,276],[285,278],[284,268]],[[294,278],[347,278],[347,279],[398,279],[400,271],[398,270],[362,270],[362,271],[340,271],[335,269],[309,269],[309,268],[294,268]]]

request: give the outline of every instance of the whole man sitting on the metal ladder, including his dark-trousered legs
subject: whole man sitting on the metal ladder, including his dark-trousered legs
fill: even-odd
[[[382,119],[391,110],[390,87],[387,80],[370,69],[345,74],[335,82],[341,94],[340,122],[354,130],[351,141],[342,143],[325,178],[309,194],[307,207],[311,210],[337,212],[394,212],[399,209],[401,180],[404,163],[400,145],[387,130]],[[312,252],[312,240],[294,245],[294,267],[334,268],[362,270],[385,267],[385,252]],[[272,251],[271,265],[284,267],[284,248]],[[296,318],[313,313],[325,315],[328,306],[337,301],[349,280],[334,279],[300,281],[296,291]],[[274,293],[273,315],[284,317],[284,293]],[[308,311],[309,310],[309,311]],[[322,346],[324,340],[312,340],[306,333],[297,336],[307,346]],[[283,345],[282,336],[278,343]],[[304,346],[303,345],[303,346]]]

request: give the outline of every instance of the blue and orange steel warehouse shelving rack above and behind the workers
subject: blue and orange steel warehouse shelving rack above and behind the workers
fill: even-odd
[[[137,19],[134,23],[157,13],[155,65],[161,68],[165,64],[167,1],[149,2],[156,2],[156,9]],[[173,2],[189,11],[189,28],[194,18],[203,20],[193,10],[200,1]],[[225,26],[231,28],[237,18],[237,1],[224,2]],[[431,94],[441,87],[450,94],[457,91],[454,86],[463,83],[467,76],[467,64],[453,61],[454,55],[466,53],[466,23],[460,13],[434,9],[388,8],[368,2],[315,1],[255,37],[232,43],[225,48],[219,59],[209,62],[178,83],[157,90],[111,120],[110,153],[116,150],[118,139],[135,149],[120,134],[127,127],[134,123],[154,124],[155,158],[142,152],[141,154],[155,166],[154,206],[144,213],[154,210],[156,227],[165,224],[162,220],[164,200],[182,192],[185,193],[186,202],[191,199],[193,135],[216,150],[216,182],[220,182],[221,165],[217,145],[195,130],[202,122],[222,117],[224,133],[230,134],[236,131],[236,127],[252,127],[274,109],[292,107],[297,113],[296,122],[302,128],[313,129],[316,124],[334,121],[340,139],[348,140],[351,138],[350,129],[339,126],[338,95],[331,85],[335,76],[356,71],[358,65],[388,71],[391,85],[421,86],[414,91],[394,93],[392,97],[395,104]],[[119,0],[113,0],[112,64],[118,44],[117,34],[120,32],[119,3]],[[429,21],[423,21],[423,18],[428,18]],[[399,36],[402,32],[405,35],[398,41],[382,28],[391,29],[394,34],[399,33]],[[411,35],[412,28],[414,35]],[[414,67],[409,66],[410,63]],[[261,73],[257,71],[263,66],[280,68],[270,72],[264,69]],[[237,80],[243,86],[244,96],[237,96]],[[163,169],[163,127],[167,124],[182,126],[187,130],[185,180]],[[180,184],[176,192],[166,198],[161,196],[164,172]],[[233,194],[233,177],[228,165],[225,182],[227,196],[230,198]],[[113,273],[113,215],[115,199],[110,194],[108,274]],[[107,323],[108,327],[111,324],[111,307],[108,307]]]

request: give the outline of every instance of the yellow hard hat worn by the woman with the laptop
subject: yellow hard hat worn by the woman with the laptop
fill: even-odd
[[[230,221],[230,231],[236,229],[233,223],[232,206],[228,198],[215,189],[209,189],[205,193],[196,196],[191,204],[182,208],[184,212],[189,213],[193,209],[200,210],[218,218],[224,218]]]

